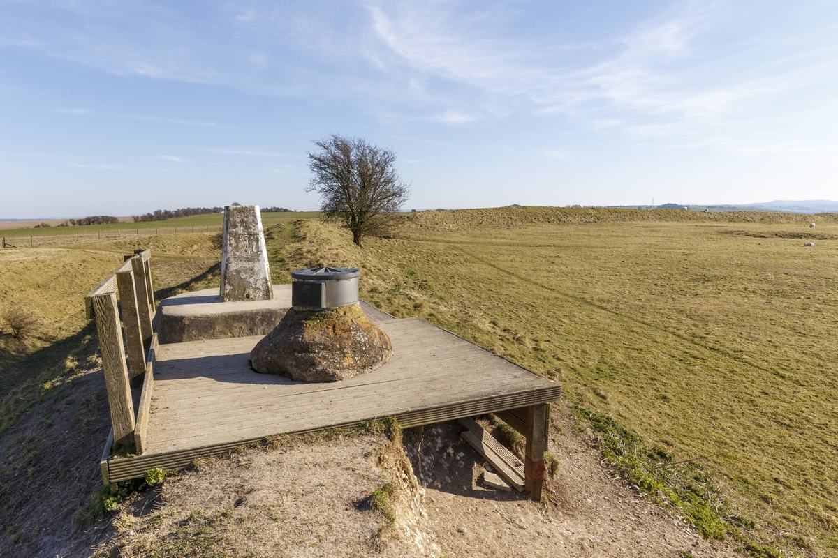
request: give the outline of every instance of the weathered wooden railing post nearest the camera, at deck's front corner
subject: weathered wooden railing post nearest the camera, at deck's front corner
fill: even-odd
[[[122,345],[122,328],[116,311],[116,293],[97,294],[93,297],[96,314],[96,331],[99,333],[99,350],[105,369],[107,402],[111,407],[113,440],[127,448],[134,447],[134,404]]]

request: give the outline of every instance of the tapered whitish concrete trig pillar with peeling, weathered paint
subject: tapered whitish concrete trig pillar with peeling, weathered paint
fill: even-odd
[[[259,206],[235,204],[224,208],[220,299],[273,299]]]

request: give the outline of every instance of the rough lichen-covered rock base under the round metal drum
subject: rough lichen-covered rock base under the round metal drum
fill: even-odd
[[[288,310],[251,351],[257,372],[297,381],[339,381],[374,371],[390,360],[390,338],[360,305],[334,310]]]

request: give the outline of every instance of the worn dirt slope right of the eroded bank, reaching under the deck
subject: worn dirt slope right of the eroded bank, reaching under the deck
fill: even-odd
[[[556,417],[555,415],[559,415]],[[444,555],[458,556],[732,556],[727,544],[711,544],[697,531],[608,475],[597,452],[572,434],[566,408],[554,412],[550,451],[559,460],[551,481],[551,508],[523,494],[478,484],[484,461],[459,438],[461,427],[445,422],[407,431],[405,446],[427,488],[413,528],[426,533]],[[447,448],[463,458],[450,456]],[[460,467],[458,462],[462,462]],[[446,482],[446,479],[451,479]],[[689,553],[689,554],[688,554]]]

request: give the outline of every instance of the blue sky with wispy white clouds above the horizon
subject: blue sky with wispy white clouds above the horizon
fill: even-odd
[[[0,218],[838,198],[838,3],[0,0]]]

